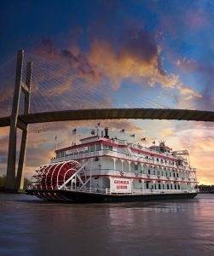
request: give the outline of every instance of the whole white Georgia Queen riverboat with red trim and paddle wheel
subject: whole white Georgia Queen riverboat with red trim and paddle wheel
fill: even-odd
[[[129,143],[110,137],[108,128],[56,149],[33,179],[27,194],[46,201],[174,200],[199,192],[187,150],[173,151],[163,141],[150,147]]]

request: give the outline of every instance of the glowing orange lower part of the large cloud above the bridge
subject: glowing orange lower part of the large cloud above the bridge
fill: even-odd
[[[129,48],[118,53],[107,42],[94,40],[88,58],[92,66],[101,67],[101,72],[111,79],[114,90],[119,89],[123,79],[147,82],[150,86],[159,83],[165,88],[174,87],[178,81],[176,75],[162,70],[158,49],[151,58],[143,59]]]

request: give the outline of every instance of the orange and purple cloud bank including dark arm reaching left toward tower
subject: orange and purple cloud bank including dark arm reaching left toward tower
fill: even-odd
[[[92,89],[102,84],[103,79],[109,79],[114,90],[119,90],[124,79],[150,86],[160,84],[164,88],[173,88],[179,82],[177,75],[164,70],[161,49],[153,35],[139,27],[125,27],[120,35],[113,31],[112,38],[98,38],[94,33],[86,52],[77,45],[57,49],[49,38],[43,39],[35,51],[49,60],[64,61],[67,70],[76,68],[78,77],[92,79]],[[64,91],[60,87],[69,90],[65,84],[58,87],[60,92]]]

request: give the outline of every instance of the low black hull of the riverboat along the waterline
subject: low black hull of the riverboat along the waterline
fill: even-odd
[[[119,195],[98,194],[69,190],[26,189],[28,195],[36,195],[46,201],[73,201],[73,202],[123,202],[123,201],[163,201],[177,199],[193,199],[197,193],[181,194],[147,194],[147,195]]]

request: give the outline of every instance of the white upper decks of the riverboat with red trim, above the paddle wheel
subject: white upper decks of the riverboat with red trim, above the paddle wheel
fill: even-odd
[[[72,145],[67,148],[55,150],[56,157],[51,163],[65,160],[86,160],[95,157],[109,156],[121,160],[129,160],[147,165],[163,166],[174,168],[182,171],[196,172],[191,168],[185,155],[181,151],[172,151],[171,148],[161,145],[145,147],[135,143],[129,143],[117,137],[109,138],[108,136],[95,135],[85,137],[80,140],[81,143]]]

